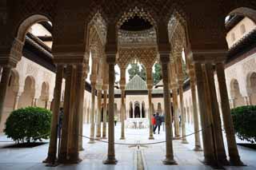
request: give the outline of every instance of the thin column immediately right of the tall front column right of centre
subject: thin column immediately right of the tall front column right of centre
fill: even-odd
[[[179,121],[178,121],[178,89],[173,88],[173,101],[174,101],[174,134],[176,139],[180,137]]]

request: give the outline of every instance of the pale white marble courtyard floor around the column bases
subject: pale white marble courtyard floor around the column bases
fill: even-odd
[[[194,132],[192,125],[186,125],[186,133]],[[162,128],[162,127],[161,127]],[[160,134],[154,135],[154,140],[148,140],[148,129],[126,128],[126,140],[119,140],[121,125],[115,127],[115,142],[126,144],[161,142],[165,140],[165,132],[161,129]],[[90,136],[90,125],[84,125],[84,136]],[[224,134],[225,136],[225,134]],[[0,141],[6,141],[6,136],[0,136]],[[106,159],[107,144],[97,141],[88,144],[88,139],[83,139],[84,151],[80,152],[82,162],[80,164],[58,165],[58,167],[46,167],[42,160],[46,158],[48,144],[34,148],[3,148],[10,142],[0,142],[0,170],[41,170],[41,169],[137,169],[143,164],[144,169],[212,169],[202,164],[203,152],[194,152],[194,135],[188,136],[189,144],[181,144],[181,140],[174,140],[174,159],[178,165],[164,165],[165,143],[150,144],[139,147],[140,158],[138,161],[138,147],[116,144],[115,153],[118,164],[105,165],[102,161]],[[107,140],[106,140],[107,141]],[[238,146],[242,161],[246,167],[226,167],[226,169],[256,169],[256,151],[250,148]]]

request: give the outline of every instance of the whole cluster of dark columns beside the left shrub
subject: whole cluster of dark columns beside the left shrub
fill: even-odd
[[[57,65],[56,81],[54,88],[54,110],[51,124],[50,144],[46,162],[54,163],[57,152],[57,125],[59,117],[60,99],[62,92],[62,78],[66,66],[64,115],[62,119],[62,138],[58,162],[62,164],[78,163],[79,149],[79,119],[82,114],[85,69],[83,64]]]

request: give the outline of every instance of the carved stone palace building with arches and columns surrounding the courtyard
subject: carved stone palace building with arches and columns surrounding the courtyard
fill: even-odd
[[[149,128],[154,141],[151,117],[160,113],[166,127],[163,164],[178,163],[173,140],[181,137],[186,144],[186,124],[193,123],[194,132],[204,129],[202,136],[194,134],[194,151],[203,148],[206,164],[241,166],[230,108],[256,105],[255,23],[254,0],[4,0],[0,130],[14,109],[50,109],[46,162],[58,157],[61,164],[79,163],[80,134],[90,124],[90,143],[107,139],[104,163],[116,164],[114,117],[121,122],[121,140],[126,128]],[[146,81],[138,75],[126,81],[135,61],[146,68]],[[156,62],[162,81],[154,85]]]

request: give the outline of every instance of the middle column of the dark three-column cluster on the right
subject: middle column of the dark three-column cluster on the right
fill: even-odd
[[[206,79],[208,81],[208,88],[209,88],[209,97],[210,97],[210,109],[213,118],[213,126],[214,126],[214,140],[215,140],[215,147],[216,147],[216,156],[218,162],[224,165],[228,165],[228,161],[226,160],[226,152],[224,147],[224,141],[222,136],[222,122],[220,119],[220,113],[218,109],[218,100],[216,94],[216,88],[214,83],[214,70],[213,65],[207,63],[206,66]]]

